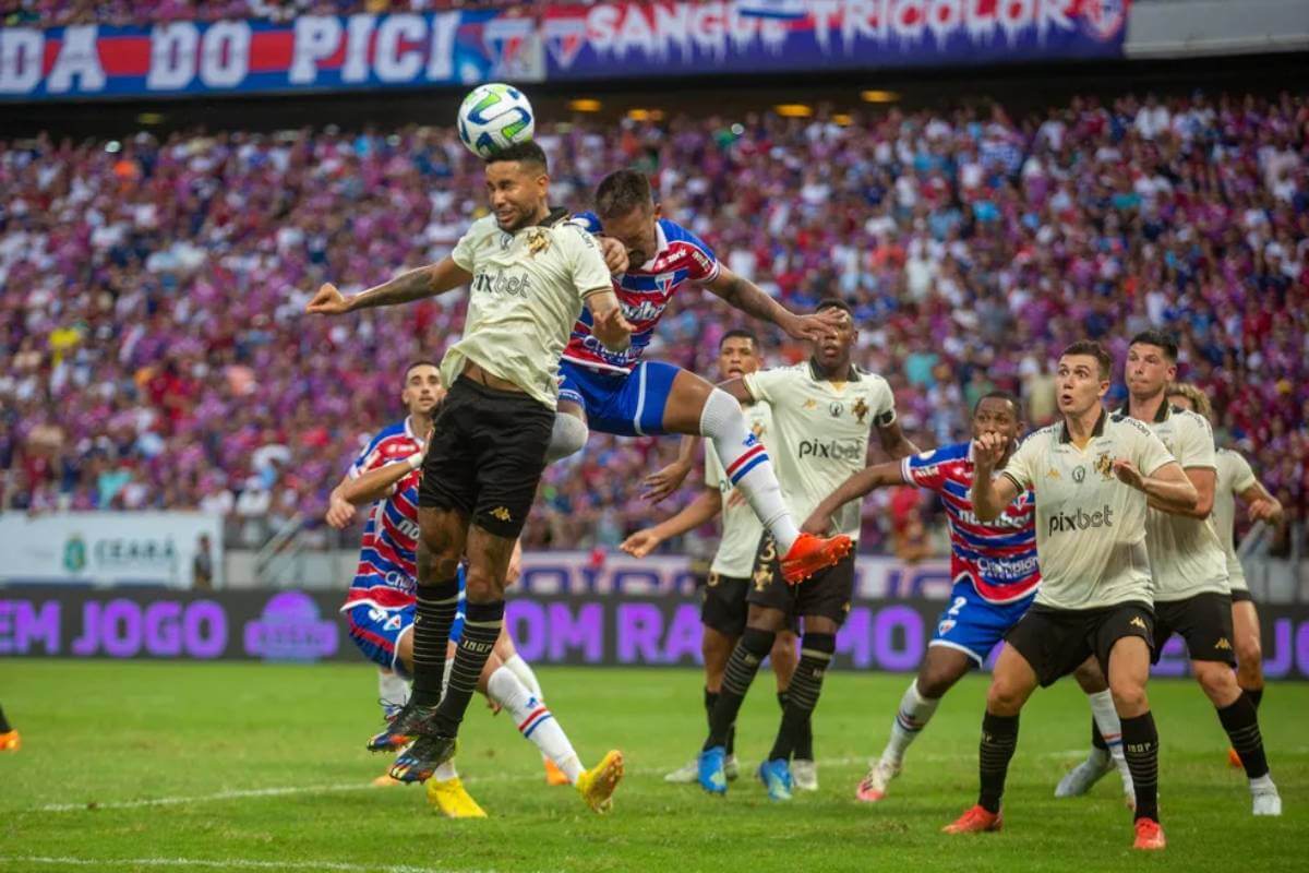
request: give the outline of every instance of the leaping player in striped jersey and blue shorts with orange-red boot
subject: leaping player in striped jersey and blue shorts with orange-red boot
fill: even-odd
[[[788,582],[835,564],[850,552],[850,537],[801,534],[781,499],[781,488],[763,445],[741,414],[741,404],[690,370],[644,361],[654,327],[673,296],[687,283],[708,288],[737,309],[770,321],[791,336],[819,340],[835,329],[835,310],[797,315],[753,283],[719,263],[704,242],[660,215],[649,179],[636,170],[611,173],[596,190],[596,213],[575,217],[601,237],[606,262],[626,253],[626,270],[614,283],[623,317],[632,325],[631,347],[610,352],[592,334],[583,312],[559,364],[559,415],[548,458],[577,452],[588,425],[601,433],[641,436],[683,433],[713,442],[733,487],[740,488],[783,554]],[[620,249],[619,249],[620,247]],[[656,499],[670,492],[691,469],[690,454],[647,482]]]

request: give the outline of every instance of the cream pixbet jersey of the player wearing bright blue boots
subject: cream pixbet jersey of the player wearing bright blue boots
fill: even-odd
[[[774,450],[768,454],[796,522],[864,469],[873,427],[895,420],[895,398],[886,380],[853,373],[848,382],[829,382],[806,363],[745,377],[751,397],[772,407]],[[853,500],[836,510],[833,522],[857,541],[859,518]]]

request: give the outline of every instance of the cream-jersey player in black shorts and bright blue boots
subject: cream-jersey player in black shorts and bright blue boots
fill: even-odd
[[[890,385],[880,376],[859,370],[851,361],[857,330],[850,306],[840,300],[818,304],[818,310],[827,309],[840,310],[844,317],[836,322],[833,336],[814,343],[810,360],[749,373],[721,386],[741,403],[767,403],[772,408],[778,478],[796,518],[808,517],[836,486],[864,467],[873,429],[882,450],[893,458],[918,452],[901,432]],[[829,533],[856,541],[859,507],[842,508],[834,516],[834,527]],[[776,544],[764,537],[747,596],[746,628],[728,658],[723,691],[709,720],[709,736],[700,751],[698,780],[709,793],[726,792],[728,732],[759,662],[772,649],[776,635],[800,618],[804,623],[800,664],[791,678],[772,751],[758,770],[768,797],[791,800],[791,759],[818,704],[823,675],[836,650],[836,631],[850,613],[855,590],[853,555],[846,555],[798,585],[783,577],[778,559]]]

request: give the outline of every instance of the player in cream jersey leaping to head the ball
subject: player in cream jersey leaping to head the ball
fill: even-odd
[[[454,755],[463,712],[504,624],[505,575],[546,465],[559,395],[559,356],[586,308],[592,332],[620,351],[631,325],[614,296],[609,267],[586,230],[551,209],[546,154],[535,143],[486,162],[492,215],[473,223],[440,263],[360,294],[325,284],[310,313],[389,306],[471,285],[463,336],[445,353],[449,386],[428,446],[419,492],[414,688],[369,749],[408,743],[391,768],[423,781]],[[467,555],[463,636],[442,694],[445,649]],[[622,759],[615,762],[620,772]]]

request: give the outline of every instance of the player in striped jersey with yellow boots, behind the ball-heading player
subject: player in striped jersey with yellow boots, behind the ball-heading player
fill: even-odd
[[[346,479],[332,491],[327,521],[343,527],[353,517],[355,507],[372,504],[365,526],[359,571],[346,596],[342,613],[350,637],[390,682],[382,686],[382,699],[399,708],[408,696],[404,677],[412,674],[414,615],[416,611],[418,491],[425,436],[431,432],[431,412],[444,397],[436,365],[410,365],[402,398],[410,415],[374,437]],[[423,433],[423,437],[406,436]],[[401,457],[394,449],[407,440],[416,452]],[[390,442],[389,442],[390,441]],[[382,446],[380,449],[378,446]],[[517,565],[517,550],[513,565]],[[514,575],[513,565],[511,576]],[[459,571],[462,593],[463,572]],[[450,631],[449,647],[459,639],[458,627]],[[453,658],[446,664],[453,664]],[[596,811],[606,811],[610,797],[622,777],[622,757],[609,753],[592,770],[580,758],[541,699],[541,686],[531,669],[518,657],[513,641],[501,630],[495,649],[478,682],[495,705],[508,711],[524,738],[530,739],[559,775],[558,784],[571,783],[583,800]],[[385,704],[384,704],[385,705]],[[547,768],[548,770],[548,768]],[[394,781],[394,780],[393,780]],[[479,818],[486,813],[467,794],[453,762],[441,764],[428,781],[428,798],[452,818]]]

